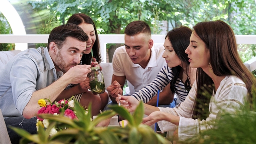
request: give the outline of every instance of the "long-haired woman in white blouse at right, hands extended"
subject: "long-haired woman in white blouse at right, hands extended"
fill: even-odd
[[[256,80],[237,52],[233,30],[223,21],[197,23],[186,51],[190,66],[197,68],[197,79],[184,102],[177,108],[144,104],[148,117],[144,124],[158,122],[161,131],[174,131],[176,140],[185,140],[213,128],[221,109],[241,109],[252,101]],[[203,95],[207,92],[207,95]],[[134,111],[139,101],[118,95],[124,107]],[[174,141],[175,143],[175,141]]]

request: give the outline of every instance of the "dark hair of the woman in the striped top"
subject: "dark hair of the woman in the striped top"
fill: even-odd
[[[175,29],[172,29],[171,31],[169,31],[167,33],[167,35],[165,36],[165,39],[169,39],[172,47],[174,49],[174,52],[177,54],[177,56],[179,57],[179,59],[181,59],[181,62],[184,64],[186,64],[186,71],[185,74],[188,74],[188,70],[189,70],[189,64],[190,62],[188,62],[188,57],[187,57],[187,53],[185,53],[185,50],[187,49],[187,46],[189,46],[190,43],[190,36],[192,34],[192,30],[190,28],[188,28],[187,26],[181,26]],[[177,88],[175,87],[177,78],[179,77],[179,74],[181,72],[181,66],[178,65],[174,68],[171,68],[173,73],[174,73],[174,77],[170,82],[170,88],[172,92],[175,93],[179,93],[177,91]],[[190,86],[190,78],[187,77],[187,80],[184,83],[185,88],[187,89],[187,91],[189,92],[191,89]]]

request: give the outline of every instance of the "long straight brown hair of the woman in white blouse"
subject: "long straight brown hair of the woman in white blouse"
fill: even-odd
[[[236,38],[231,27],[221,20],[201,22],[194,26],[194,32],[210,50],[210,63],[217,76],[236,75],[246,84],[249,101],[252,101],[252,86],[255,77],[243,64],[237,52]],[[197,68],[197,95],[193,118],[205,119],[209,115],[210,97],[213,94],[213,80],[201,68]],[[198,111],[202,110],[203,111]]]

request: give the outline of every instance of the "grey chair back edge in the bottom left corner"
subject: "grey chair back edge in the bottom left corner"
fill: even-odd
[[[0,109],[0,144],[11,144],[10,137],[3,119],[2,111]]]

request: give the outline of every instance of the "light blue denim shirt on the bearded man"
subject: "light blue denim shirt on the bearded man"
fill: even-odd
[[[0,70],[3,117],[21,116],[33,92],[54,81],[56,69],[47,48],[26,49],[18,53]]]

